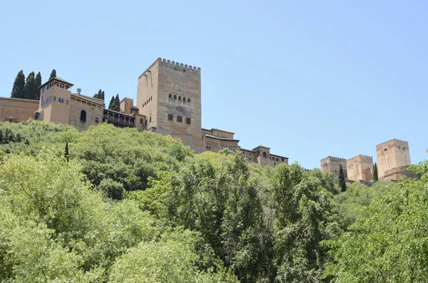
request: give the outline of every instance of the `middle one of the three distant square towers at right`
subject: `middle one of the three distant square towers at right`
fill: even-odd
[[[355,182],[373,180],[373,158],[366,155],[357,155],[346,160],[348,180]]]

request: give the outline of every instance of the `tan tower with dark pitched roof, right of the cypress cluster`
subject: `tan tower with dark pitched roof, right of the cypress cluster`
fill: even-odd
[[[71,91],[73,83],[63,78],[51,78],[39,87],[40,104],[37,119],[68,125],[70,115]]]

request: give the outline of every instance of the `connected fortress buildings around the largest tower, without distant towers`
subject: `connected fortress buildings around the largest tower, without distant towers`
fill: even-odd
[[[241,151],[248,161],[260,165],[288,164],[288,158],[273,155],[270,148],[262,145],[253,150],[241,149],[234,133],[201,128],[200,68],[158,58],[138,78],[136,106],[131,98],[123,98],[120,112],[104,108],[101,99],[83,96],[80,88],[71,93],[72,86],[63,78],[53,78],[40,87],[40,101],[2,98],[0,117],[49,120],[79,130],[112,123],[180,138],[195,153],[229,148]]]

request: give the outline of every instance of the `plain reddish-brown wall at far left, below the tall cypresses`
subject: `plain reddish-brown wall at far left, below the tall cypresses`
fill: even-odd
[[[19,122],[25,122],[29,118],[34,119],[37,109],[39,101],[0,97],[0,121],[5,118],[16,118]]]

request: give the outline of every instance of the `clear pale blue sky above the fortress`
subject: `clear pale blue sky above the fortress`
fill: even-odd
[[[320,166],[409,141],[427,159],[426,1],[1,1],[0,96],[52,68],[136,98],[158,57],[202,68],[202,125]]]

